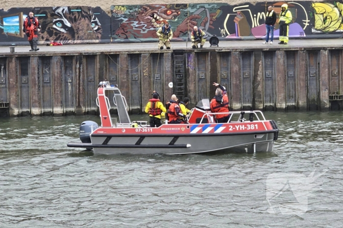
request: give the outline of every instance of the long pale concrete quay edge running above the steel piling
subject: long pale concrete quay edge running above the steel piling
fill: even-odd
[[[171,50],[159,50],[156,43],[116,44],[70,44],[63,46],[39,46],[37,52],[29,52],[29,46],[17,46],[10,53],[8,46],[0,47],[0,57],[16,56],[68,56],[100,54],[137,54],[168,52],[227,52],[227,51],[278,51],[278,50],[330,50],[343,49],[343,39],[290,40],[287,45],[262,44],[263,41],[220,41],[219,47],[210,47],[206,42],[203,49],[192,49],[191,42],[172,42]]]

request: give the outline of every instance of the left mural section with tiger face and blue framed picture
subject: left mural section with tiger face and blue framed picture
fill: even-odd
[[[110,41],[110,17],[99,7],[35,7],[0,10],[0,42],[26,43],[23,20],[32,11],[41,24],[40,43],[98,43]],[[2,31],[1,31],[2,30]]]

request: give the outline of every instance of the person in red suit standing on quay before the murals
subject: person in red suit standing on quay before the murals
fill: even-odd
[[[33,16],[33,13],[30,12],[29,16],[25,18],[23,23],[23,31],[27,36],[27,40],[31,45],[30,51],[38,51],[38,32],[41,31],[41,25],[36,17]]]

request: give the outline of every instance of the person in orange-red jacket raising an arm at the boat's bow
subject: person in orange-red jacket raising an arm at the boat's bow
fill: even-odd
[[[211,112],[226,112],[225,114],[216,114],[218,123],[227,123],[229,120],[229,99],[226,94],[226,89],[218,83],[213,83],[219,88],[216,89],[216,96],[211,100]]]

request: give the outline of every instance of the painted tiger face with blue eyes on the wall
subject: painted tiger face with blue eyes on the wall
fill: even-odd
[[[41,41],[62,43],[99,42],[102,28],[91,7],[45,8],[36,13],[41,23]]]

